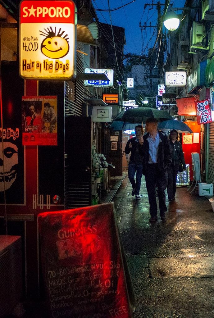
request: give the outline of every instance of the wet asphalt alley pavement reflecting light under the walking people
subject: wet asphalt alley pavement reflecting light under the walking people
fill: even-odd
[[[214,212],[187,187],[168,202],[166,223],[149,223],[142,177],[141,200],[126,175],[113,202],[136,297],[133,318],[214,317]],[[166,196],[167,197],[167,196]],[[158,198],[157,198],[158,201]]]

